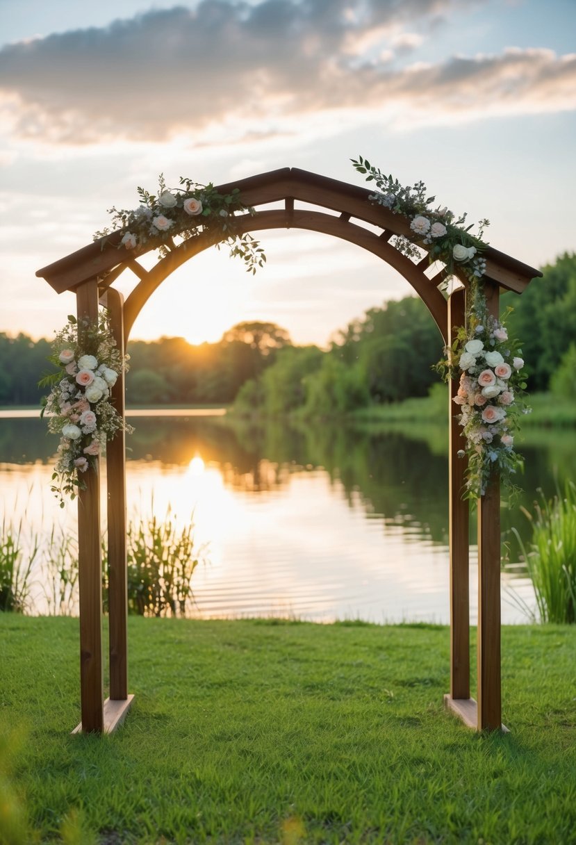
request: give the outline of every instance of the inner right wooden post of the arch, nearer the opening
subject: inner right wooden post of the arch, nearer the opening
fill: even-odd
[[[457,290],[448,299],[448,346],[454,341],[454,328],[465,324],[465,290]],[[466,443],[455,415],[452,401],[459,380],[453,379],[448,390],[449,432],[449,544],[450,544],[450,696],[470,698],[470,551],[468,543],[469,504],[462,499],[467,459],[458,456]]]

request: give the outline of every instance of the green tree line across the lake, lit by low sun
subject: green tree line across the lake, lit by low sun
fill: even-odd
[[[510,333],[522,341],[529,390],[576,398],[576,254],[543,268],[521,297],[503,295]],[[34,406],[50,341],[0,334],[0,406]],[[328,351],[295,346],[274,323],[242,322],[217,343],[131,341],[130,406],[227,405],[240,412],[329,417],[427,395],[442,339],[417,297],[369,308],[334,335]]]

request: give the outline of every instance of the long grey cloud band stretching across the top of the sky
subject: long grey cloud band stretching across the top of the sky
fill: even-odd
[[[67,144],[222,143],[318,116],[402,128],[576,107],[574,55],[510,49],[394,67],[457,8],[470,0],[203,0],[151,11],[4,46],[0,107],[18,137]]]

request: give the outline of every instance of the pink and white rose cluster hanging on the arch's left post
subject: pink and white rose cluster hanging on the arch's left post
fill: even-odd
[[[118,431],[133,431],[110,401],[119,373],[128,368],[128,357],[122,358],[117,349],[106,313],[101,311],[97,324],[85,323],[80,328],[81,343],[78,321],[69,316],[49,357],[58,372],[39,383],[52,387],[42,402],[41,416],[47,412],[48,430],[61,435],[52,473],[52,492],[61,507],[65,496],[74,499],[77,490],[85,488],[82,476],[95,468],[106,439]]]

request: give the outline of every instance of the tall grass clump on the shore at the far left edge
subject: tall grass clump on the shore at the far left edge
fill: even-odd
[[[26,547],[22,526],[23,520],[14,525],[3,516],[0,535],[0,611],[3,612],[24,613],[30,594],[30,575],[40,542],[33,533]]]

